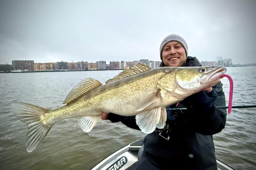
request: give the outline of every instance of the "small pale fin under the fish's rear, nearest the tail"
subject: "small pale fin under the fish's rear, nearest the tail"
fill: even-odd
[[[100,116],[83,116],[78,120],[78,124],[84,132],[88,133],[93,129],[99,119]]]

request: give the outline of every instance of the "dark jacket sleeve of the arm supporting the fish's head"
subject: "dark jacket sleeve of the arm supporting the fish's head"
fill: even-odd
[[[226,105],[222,83],[219,82],[212,88],[209,93],[200,91],[185,99],[188,122],[195,132],[202,135],[221,132],[226,124],[226,109],[216,108]]]

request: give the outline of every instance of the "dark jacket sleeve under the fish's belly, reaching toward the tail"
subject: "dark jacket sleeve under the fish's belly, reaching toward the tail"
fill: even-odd
[[[136,124],[135,117],[136,116],[121,116],[114,113],[109,113],[107,119],[112,123],[122,122],[129,128],[140,130],[139,126]]]

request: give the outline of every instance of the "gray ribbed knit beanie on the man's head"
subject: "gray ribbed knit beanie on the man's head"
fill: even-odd
[[[163,51],[163,47],[169,43],[170,41],[177,41],[179,43],[181,43],[181,45],[183,46],[183,48],[185,49],[186,52],[186,57],[187,57],[187,43],[185,41],[184,38],[182,38],[179,35],[176,34],[170,34],[167,37],[165,37],[160,45],[160,58],[161,60],[163,60],[163,56],[162,56],[162,51]]]

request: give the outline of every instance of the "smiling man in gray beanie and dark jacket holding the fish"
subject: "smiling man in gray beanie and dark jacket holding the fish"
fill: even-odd
[[[187,55],[187,51],[187,44],[181,36],[168,35],[160,45],[160,67],[201,66],[196,57]],[[187,110],[167,111],[165,128],[145,136],[144,151],[134,168],[217,169],[212,135],[225,127],[226,109],[216,109],[216,106],[225,106],[220,82],[168,106],[186,107]],[[103,112],[102,119],[121,121],[130,128],[140,130],[135,116]]]

